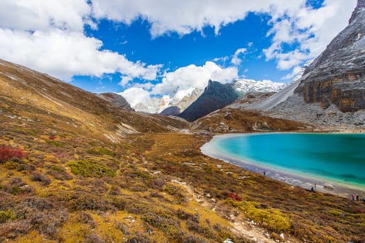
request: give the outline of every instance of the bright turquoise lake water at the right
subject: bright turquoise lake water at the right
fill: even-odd
[[[265,133],[222,136],[214,149],[261,167],[365,188],[365,134]]]

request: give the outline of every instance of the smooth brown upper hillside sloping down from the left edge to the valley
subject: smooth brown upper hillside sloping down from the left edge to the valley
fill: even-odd
[[[52,120],[51,128],[91,131],[114,142],[130,133],[168,132],[186,126],[170,117],[119,109],[95,94],[3,60],[0,78],[3,115],[31,119],[26,126]]]

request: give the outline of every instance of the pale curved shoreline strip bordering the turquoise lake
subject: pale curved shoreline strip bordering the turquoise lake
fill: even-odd
[[[256,172],[258,174],[266,174],[266,176],[275,179],[276,181],[281,181],[282,183],[286,183],[293,186],[299,186],[305,188],[307,190],[311,190],[311,187],[314,187],[316,184],[316,191],[334,194],[341,197],[351,198],[352,194],[359,194],[362,197],[365,197],[365,188],[361,187],[361,185],[352,185],[342,183],[341,181],[333,181],[327,178],[303,175],[300,173],[295,173],[294,171],[283,170],[276,167],[269,167],[264,165],[257,165],[248,160],[244,160],[242,158],[234,158],[233,156],[228,156],[227,154],[223,154],[218,149],[216,149],[215,144],[217,140],[222,139],[222,137],[234,137],[241,135],[250,135],[250,134],[264,134],[264,133],[233,133],[233,134],[223,134],[216,135],[213,139],[206,144],[204,144],[200,151],[209,157],[216,158],[219,160],[223,160],[225,162],[229,162],[231,164],[237,165],[239,167],[243,167],[244,169],[248,169],[250,171]],[[324,187],[325,183],[330,183],[334,186],[334,189],[327,189]]]

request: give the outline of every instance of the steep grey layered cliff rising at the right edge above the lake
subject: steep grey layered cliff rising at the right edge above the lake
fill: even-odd
[[[365,0],[305,74],[295,93],[307,103],[320,102],[324,109],[334,103],[343,112],[365,109]]]

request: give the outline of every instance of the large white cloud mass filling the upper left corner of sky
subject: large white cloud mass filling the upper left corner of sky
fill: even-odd
[[[95,25],[90,12],[83,0],[2,0],[0,57],[65,80],[116,72],[126,84],[133,78],[155,80],[161,65],[131,62],[83,33],[85,24]]]

